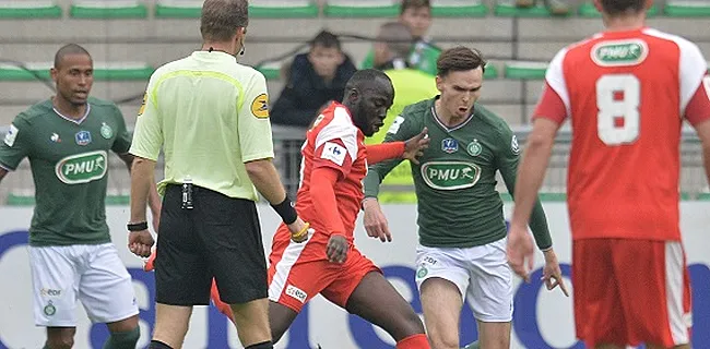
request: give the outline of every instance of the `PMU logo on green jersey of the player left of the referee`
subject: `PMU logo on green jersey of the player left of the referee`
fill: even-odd
[[[104,178],[107,158],[105,151],[71,155],[57,163],[55,174],[67,184],[88,183]]]

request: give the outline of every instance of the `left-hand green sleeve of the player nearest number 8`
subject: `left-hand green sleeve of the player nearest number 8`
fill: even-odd
[[[417,135],[421,130],[416,131],[413,123],[412,118],[407,118],[405,112],[398,116],[394,118],[392,125],[387,131],[383,143],[406,141]],[[382,183],[384,177],[387,177],[393,168],[400,165],[400,163],[402,163],[402,159],[397,158],[370,166],[367,171],[367,177],[365,177],[365,180],[363,181],[365,197],[377,197],[380,192],[380,183]]]

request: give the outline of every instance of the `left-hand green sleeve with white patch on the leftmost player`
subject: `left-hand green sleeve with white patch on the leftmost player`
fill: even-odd
[[[0,166],[14,171],[32,152],[32,127],[22,115],[10,124],[10,130],[0,144]]]

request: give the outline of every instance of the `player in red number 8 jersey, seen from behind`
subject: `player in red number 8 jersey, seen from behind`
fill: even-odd
[[[590,348],[689,348],[679,143],[697,131],[710,178],[710,81],[698,47],[644,26],[650,0],[595,0],[606,31],[551,62],[519,168],[508,258],[528,278],[528,218],[570,119],[567,197],[577,336]]]

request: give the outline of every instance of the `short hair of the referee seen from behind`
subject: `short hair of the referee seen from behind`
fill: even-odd
[[[227,41],[238,28],[249,24],[249,3],[247,0],[205,0],[200,16],[202,39]]]

